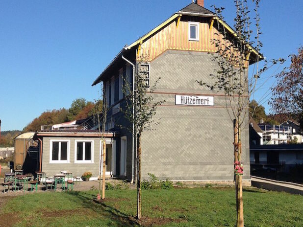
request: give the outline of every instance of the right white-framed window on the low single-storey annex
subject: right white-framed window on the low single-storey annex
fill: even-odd
[[[94,163],[94,141],[75,141],[75,163]]]

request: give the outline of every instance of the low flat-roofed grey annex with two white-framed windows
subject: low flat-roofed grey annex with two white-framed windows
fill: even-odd
[[[112,150],[116,148],[115,132],[100,134],[98,130],[55,129],[41,130],[34,135],[34,141],[39,145],[37,154],[27,152],[29,156],[37,157],[36,171],[43,171],[47,176],[59,174],[60,171],[70,171],[74,177],[81,177],[84,172],[92,172],[91,180],[97,180],[102,169],[101,136],[106,141],[106,177],[113,175]]]

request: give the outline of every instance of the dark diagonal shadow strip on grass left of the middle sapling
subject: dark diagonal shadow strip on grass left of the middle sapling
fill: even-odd
[[[138,223],[134,220],[133,217],[127,215],[126,213],[121,212],[120,210],[104,203],[95,203],[93,199],[95,196],[87,192],[79,191],[70,191],[68,194],[75,196],[76,202],[80,200],[85,208],[92,209],[94,211],[102,211],[102,215],[109,217],[113,222],[118,226],[130,227],[130,226],[139,226]],[[108,224],[108,226],[111,226]]]

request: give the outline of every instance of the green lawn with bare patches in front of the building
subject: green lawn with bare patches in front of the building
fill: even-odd
[[[0,226],[136,226],[136,190],[108,190],[104,204],[91,201],[96,190],[33,193],[9,198],[0,209]],[[245,227],[303,226],[303,197],[256,189],[244,191]],[[143,226],[233,227],[232,188],[144,190]]]

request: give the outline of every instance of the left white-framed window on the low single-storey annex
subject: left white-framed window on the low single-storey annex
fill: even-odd
[[[70,162],[70,140],[50,141],[50,163]]]

